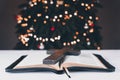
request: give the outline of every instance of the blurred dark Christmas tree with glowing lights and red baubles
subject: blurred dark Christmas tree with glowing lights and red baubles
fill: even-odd
[[[27,0],[17,15],[15,49],[100,49],[98,0]]]

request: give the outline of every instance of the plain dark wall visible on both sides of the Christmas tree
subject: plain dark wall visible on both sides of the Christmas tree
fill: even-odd
[[[18,5],[26,0],[0,0],[0,50],[11,50],[16,45],[15,15]],[[103,49],[120,49],[120,0],[100,0],[99,25],[102,27]]]

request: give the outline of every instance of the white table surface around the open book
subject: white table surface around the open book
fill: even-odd
[[[102,55],[108,62],[116,67],[115,72],[71,72],[71,78],[66,74],[52,72],[8,73],[5,68],[21,55],[29,53],[43,53],[41,50],[1,50],[0,51],[0,80],[120,80],[120,50],[82,50],[81,53],[96,53]]]

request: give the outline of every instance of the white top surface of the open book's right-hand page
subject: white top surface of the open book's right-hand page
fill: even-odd
[[[93,54],[81,53],[79,56],[66,56],[64,63],[77,63],[89,66],[98,66],[101,68],[106,68]]]

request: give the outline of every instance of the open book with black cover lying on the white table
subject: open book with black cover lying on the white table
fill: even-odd
[[[23,55],[8,66],[6,72],[55,72],[61,74],[64,72],[63,68],[67,68],[69,71],[112,72],[115,70],[114,66],[97,54],[67,55],[53,65],[43,64],[43,59],[47,56],[49,56],[47,53]]]

